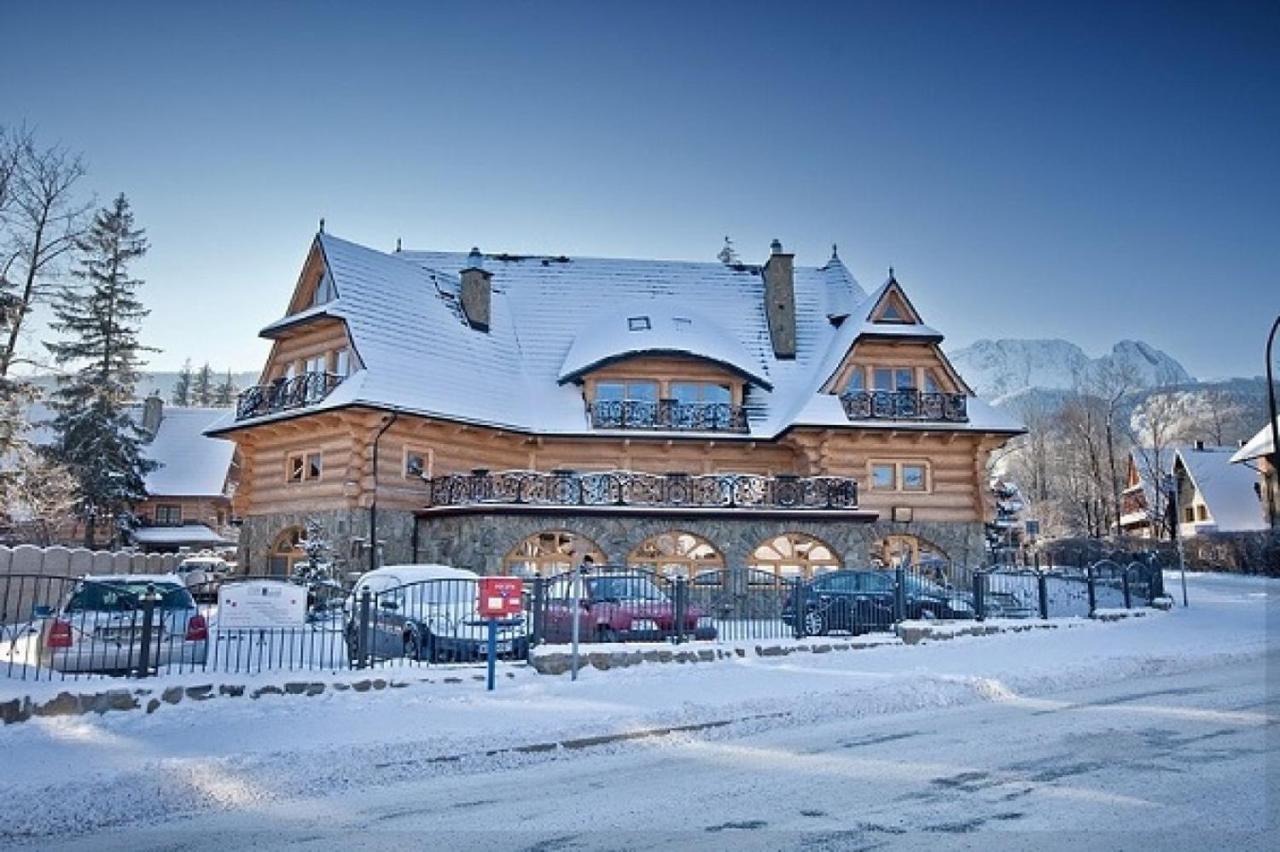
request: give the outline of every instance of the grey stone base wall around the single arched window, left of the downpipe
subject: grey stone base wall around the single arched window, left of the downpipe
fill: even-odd
[[[339,572],[364,571],[369,551],[360,544],[369,541],[369,509],[330,512],[282,512],[244,518],[241,527],[237,558],[251,574],[265,574],[271,546],[289,527],[306,528],[307,521],[319,521],[333,546]],[[383,563],[402,564],[413,559],[413,514],[393,509],[378,510],[378,539],[383,542]]]

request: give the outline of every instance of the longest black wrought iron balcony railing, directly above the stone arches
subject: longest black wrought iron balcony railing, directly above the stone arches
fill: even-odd
[[[846,476],[498,471],[430,480],[431,505],[660,507],[700,509],[856,509]]]

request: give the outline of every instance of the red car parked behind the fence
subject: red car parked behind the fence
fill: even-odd
[[[588,618],[579,629],[585,642],[655,642],[676,635],[676,605],[648,574],[590,574],[582,578],[581,610]],[[573,618],[572,576],[548,590],[543,636],[549,642],[567,641]],[[698,606],[685,610],[684,633],[689,638],[713,640],[712,617]]]

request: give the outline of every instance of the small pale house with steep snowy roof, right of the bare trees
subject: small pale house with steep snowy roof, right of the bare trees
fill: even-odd
[[[1267,528],[1253,471],[1233,464],[1230,446],[1197,443],[1181,446],[1174,458],[1178,494],[1178,533],[1184,539],[1207,532],[1257,532]]]

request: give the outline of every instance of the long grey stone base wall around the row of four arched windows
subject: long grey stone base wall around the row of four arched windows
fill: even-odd
[[[846,568],[870,565],[872,548],[891,535],[913,535],[936,545],[954,565],[986,563],[980,523],[858,523],[847,519],[760,517],[620,517],[616,514],[457,514],[419,518],[417,562],[439,562],[477,573],[502,571],[503,558],[526,537],[568,530],[593,540],[611,563],[626,562],[640,542],[673,530],[710,541],[724,554],[727,567],[746,565],[751,553],[768,539],[803,532],[831,545]],[[389,560],[388,560],[389,562]]]

